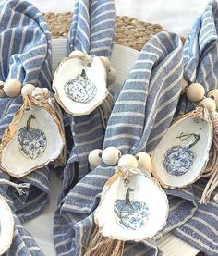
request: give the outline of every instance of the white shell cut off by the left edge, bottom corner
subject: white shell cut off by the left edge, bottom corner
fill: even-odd
[[[6,200],[0,196],[0,255],[9,249],[14,233],[14,218]]]

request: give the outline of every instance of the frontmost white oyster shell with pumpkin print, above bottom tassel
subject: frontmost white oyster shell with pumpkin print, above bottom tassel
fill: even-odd
[[[166,194],[149,173],[117,167],[103,188],[94,217],[104,237],[140,241],[163,228],[168,208]]]

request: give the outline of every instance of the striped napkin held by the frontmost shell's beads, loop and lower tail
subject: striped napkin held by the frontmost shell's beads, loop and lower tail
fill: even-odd
[[[108,120],[103,148],[113,145],[123,154],[151,152],[175,114],[182,76],[183,50],[178,36],[168,32],[153,36],[141,50],[118,96]],[[61,201],[54,226],[58,255],[84,254],[95,226],[93,214],[103,185],[114,173],[115,166],[96,167]],[[187,205],[190,211],[194,207],[192,201]],[[185,216],[179,221],[184,222]],[[126,244],[124,255],[137,253],[157,255],[160,250],[152,241]]]

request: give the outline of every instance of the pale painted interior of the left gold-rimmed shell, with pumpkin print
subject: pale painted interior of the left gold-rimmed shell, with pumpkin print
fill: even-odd
[[[3,168],[14,177],[54,161],[62,152],[63,138],[53,116],[43,107],[24,110],[14,137],[2,149]]]

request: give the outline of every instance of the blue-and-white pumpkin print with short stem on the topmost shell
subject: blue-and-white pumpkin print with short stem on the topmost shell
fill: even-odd
[[[90,103],[97,93],[96,86],[87,78],[84,69],[75,79],[67,81],[64,90],[68,98],[82,104]]]

